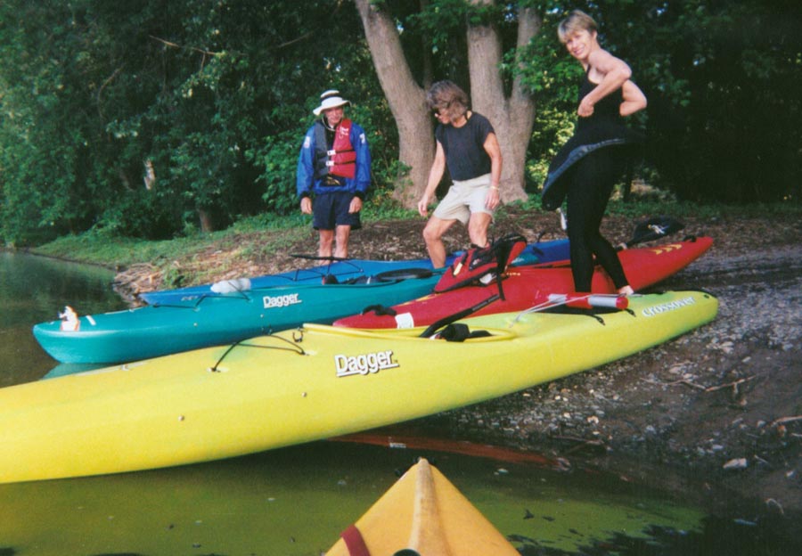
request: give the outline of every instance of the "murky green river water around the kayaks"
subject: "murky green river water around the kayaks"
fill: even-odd
[[[0,253],[0,386],[56,367],[33,338],[34,323],[65,305],[79,314],[124,307],[111,279],[101,268]],[[319,556],[420,456],[525,555],[732,555],[757,553],[756,543],[772,553],[750,524],[710,519],[618,478],[560,472],[537,458],[513,462],[503,451],[457,452],[326,441],[173,469],[0,485],[0,556]]]

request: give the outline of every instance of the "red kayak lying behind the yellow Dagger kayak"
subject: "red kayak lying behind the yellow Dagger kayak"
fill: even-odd
[[[618,258],[630,285],[637,291],[681,271],[700,258],[712,244],[710,237],[690,238],[655,247],[625,249],[618,253]],[[550,294],[569,293],[573,289],[569,261],[510,267],[503,274],[501,295],[494,279],[487,285],[467,285],[432,293],[393,307],[371,307],[361,315],[341,318],[334,325],[349,328],[428,326],[461,311],[468,311],[471,315],[523,311],[547,303]],[[602,294],[616,292],[610,276],[601,266],[596,266],[592,290]]]

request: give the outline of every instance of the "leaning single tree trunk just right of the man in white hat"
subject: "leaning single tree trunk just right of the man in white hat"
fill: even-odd
[[[395,198],[413,208],[426,188],[434,160],[435,140],[426,91],[415,83],[395,23],[371,0],[354,0],[371,49],[373,66],[398,127],[398,160],[402,169]]]

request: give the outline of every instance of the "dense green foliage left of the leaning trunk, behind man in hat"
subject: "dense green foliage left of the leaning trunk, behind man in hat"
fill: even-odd
[[[390,127],[350,4],[9,0],[0,44],[6,241],[163,238],[294,208],[329,87],[367,99],[365,127]]]

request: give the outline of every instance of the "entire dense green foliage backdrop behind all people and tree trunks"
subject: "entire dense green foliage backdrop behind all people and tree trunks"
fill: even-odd
[[[524,69],[536,96],[536,188],[573,122],[577,64],[561,2]],[[464,20],[514,46],[517,3],[385,0],[421,83],[465,82]],[[642,173],[687,200],[798,200],[802,7],[743,0],[603,0],[583,7],[650,99]],[[513,68],[507,68],[513,71]],[[397,171],[397,130],[347,0],[4,0],[0,3],[0,235],[89,229],[166,238],[297,208],[295,164],[326,88],[370,134],[373,202]]]

